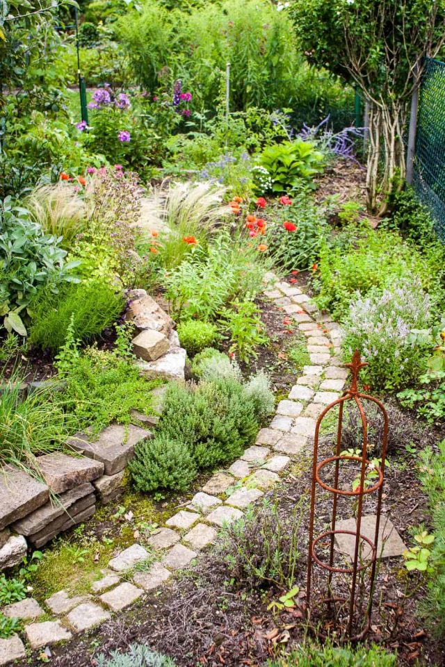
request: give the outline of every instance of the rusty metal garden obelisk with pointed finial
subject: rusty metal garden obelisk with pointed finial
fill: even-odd
[[[371,611],[372,611],[372,602],[373,602],[373,592],[375,584],[375,567],[377,564],[377,554],[378,554],[378,535],[379,535],[379,526],[380,526],[380,512],[382,507],[382,490],[383,490],[383,475],[385,471],[385,457],[387,452],[387,436],[388,436],[388,416],[387,411],[383,404],[376,398],[360,393],[358,390],[358,375],[361,368],[366,366],[366,363],[363,363],[360,359],[359,351],[356,350],[353,355],[352,363],[345,364],[347,368],[350,368],[352,373],[350,388],[346,389],[337,401],[332,402],[328,405],[321,415],[318,417],[316,422],[315,429],[315,438],[314,438],[314,463],[312,468],[312,496],[311,496],[311,514],[310,514],[310,523],[309,523],[309,557],[308,557],[308,566],[307,566],[307,613],[309,620],[313,620],[314,609],[325,607],[326,611],[322,611],[321,618],[328,617],[328,623],[332,630],[337,633],[337,635],[346,636],[350,641],[357,641],[362,639],[366,632],[368,632],[369,627],[371,627]],[[373,463],[368,459],[368,425],[366,422],[366,414],[363,409],[362,401],[372,402],[378,406],[380,413],[383,418],[383,435],[382,435],[382,449],[381,449],[381,463],[379,466],[373,466]],[[362,451],[354,452],[354,454],[343,454],[341,455],[341,440],[342,440],[342,427],[343,427],[343,411],[344,406],[348,402],[355,404],[360,419],[362,422]],[[339,406],[339,415],[338,415],[338,426],[337,426],[337,446],[334,456],[329,456],[327,459],[318,462],[318,438],[320,434],[320,427],[323,418],[332,411],[336,406]],[[355,455],[357,454],[357,455]],[[349,490],[344,484],[342,484],[341,479],[341,463],[344,462],[357,462],[359,463],[359,476],[357,475],[357,481],[359,479],[359,484],[355,490]],[[334,481],[332,486],[326,484],[321,475],[325,466],[334,466]],[[349,466],[346,464],[346,467]],[[342,468],[344,470],[344,468]],[[375,470],[377,477],[374,480],[366,478],[367,472],[369,470]],[[332,494],[332,518],[330,521],[330,530],[314,536],[314,522],[316,516],[316,505],[317,505],[317,491],[322,488],[325,491],[328,491]],[[350,488],[350,485],[349,485]],[[375,493],[377,495],[377,509],[376,509],[376,521],[375,521],[375,535],[373,541],[368,537],[360,534],[360,529],[362,526],[362,512],[364,497],[370,493]],[[356,501],[356,530],[339,530],[336,529],[337,525],[337,509],[339,504],[340,497],[349,497],[351,500]],[[348,563],[343,562],[340,564],[339,557],[341,554],[334,549],[335,537],[339,534],[346,534],[353,536],[354,539],[354,551],[353,551],[353,562],[349,567]],[[366,558],[363,558],[363,546],[369,547],[369,555],[366,555]],[[328,554],[325,555],[323,560],[323,555],[321,550],[323,547],[327,547]],[[321,595],[315,593],[312,588],[314,588],[314,569],[321,568],[318,570],[318,573],[327,573],[327,585],[322,591]],[[367,575],[369,573],[369,585],[366,588],[366,595],[368,595],[368,603],[366,604],[366,611],[364,611],[363,616],[361,616],[360,611],[357,610],[356,604],[356,595],[357,586],[357,576],[359,573]],[[334,577],[341,575],[345,577],[350,575],[350,581],[348,586],[345,586],[344,582],[341,583],[343,586],[343,591],[346,591],[346,594],[341,594],[340,596],[336,593],[336,588],[334,586],[335,581]],[[338,586],[337,586],[338,588]],[[361,588],[361,590],[363,590]],[[317,598],[318,596],[318,598]],[[366,598],[365,598],[366,599]],[[362,607],[363,609],[363,607]],[[341,621],[339,620],[341,619]]]

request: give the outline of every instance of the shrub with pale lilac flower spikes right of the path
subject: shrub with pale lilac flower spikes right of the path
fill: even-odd
[[[398,390],[426,368],[426,347],[412,331],[429,321],[430,297],[417,276],[366,296],[357,292],[343,325],[343,352],[349,359],[360,350],[369,363],[362,379],[371,390]]]

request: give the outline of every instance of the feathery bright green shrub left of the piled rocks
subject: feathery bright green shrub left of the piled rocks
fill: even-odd
[[[122,292],[98,280],[71,284],[58,294],[47,291],[33,304],[29,340],[42,349],[58,350],[71,318],[74,338],[92,340],[117,320],[124,304]]]

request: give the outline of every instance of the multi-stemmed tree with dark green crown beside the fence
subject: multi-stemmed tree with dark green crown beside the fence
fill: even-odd
[[[291,13],[307,59],[369,101],[367,200],[384,215],[405,179],[412,92],[445,41],[445,0],[293,0]]]

